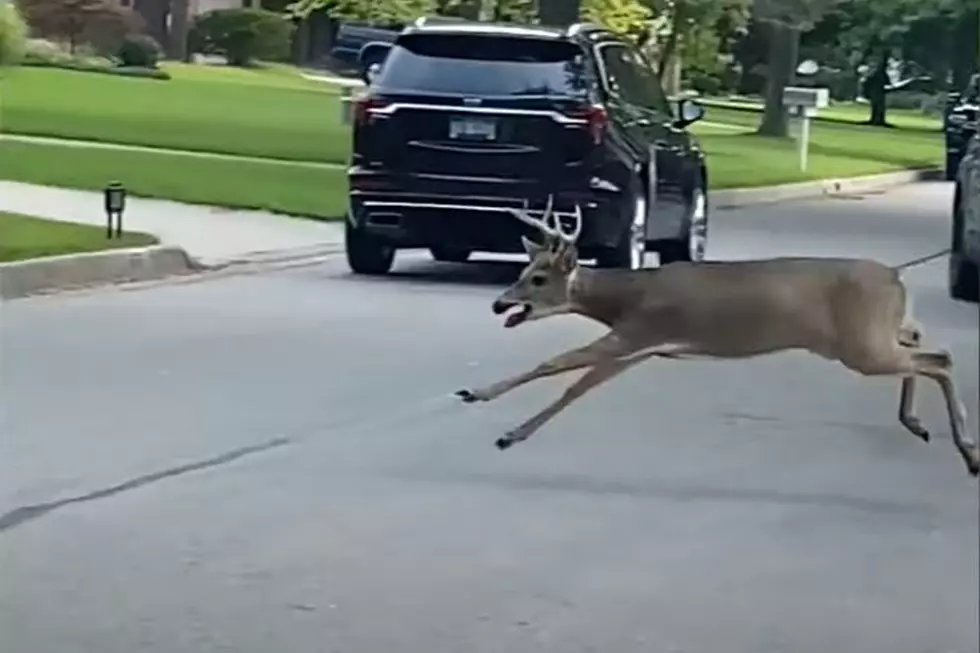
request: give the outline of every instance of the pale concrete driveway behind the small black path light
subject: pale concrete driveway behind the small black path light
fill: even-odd
[[[105,225],[101,192],[0,181],[0,211]],[[181,247],[205,265],[342,251],[343,224],[128,197],[123,229]]]

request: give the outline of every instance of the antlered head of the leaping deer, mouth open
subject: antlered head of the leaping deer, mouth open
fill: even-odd
[[[540,219],[528,215],[526,203],[524,209],[514,211],[514,216],[536,227],[544,239],[542,243],[536,243],[521,238],[531,260],[517,281],[493,302],[494,313],[508,313],[504,320],[507,328],[571,311],[568,288],[571,276],[578,268],[575,241],[582,232],[582,213],[578,208],[571,231],[564,231],[557,217],[553,227],[548,224],[552,217],[551,197]],[[518,310],[514,311],[515,308]]]

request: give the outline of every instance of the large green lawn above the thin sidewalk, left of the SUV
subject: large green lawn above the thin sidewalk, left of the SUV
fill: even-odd
[[[14,69],[0,82],[0,129],[298,161],[346,159],[335,86],[284,68],[167,70],[169,81]]]

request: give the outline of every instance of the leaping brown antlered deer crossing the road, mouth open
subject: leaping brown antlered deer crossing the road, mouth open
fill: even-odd
[[[496,440],[504,450],[531,437],[586,392],[651,358],[748,359],[803,350],[865,377],[899,377],[898,421],[930,441],[915,411],[919,378],[938,384],[953,443],[973,477],[980,450],[967,436],[967,412],[953,383],[952,354],[923,348],[922,327],[907,312],[899,272],[862,258],[780,257],[677,261],[639,270],[579,264],[582,212],[571,228],[553,218],[553,196],[540,218],[528,202],[508,209],[541,242],[521,236],[529,261],[492,304],[514,328],[559,315],[578,315],[608,331],[533,369],[455,394],[488,402],[537,379],[586,370],[543,410]]]

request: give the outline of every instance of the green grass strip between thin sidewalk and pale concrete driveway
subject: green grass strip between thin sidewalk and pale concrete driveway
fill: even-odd
[[[0,141],[0,179],[101,189],[118,179],[134,195],[342,216],[347,171],[250,160]]]

